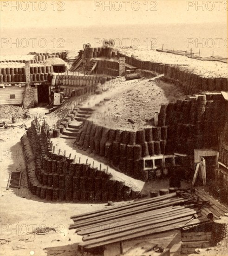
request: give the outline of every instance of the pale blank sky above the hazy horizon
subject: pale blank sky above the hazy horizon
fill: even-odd
[[[165,23],[227,24],[226,0],[0,0],[0,28]]]

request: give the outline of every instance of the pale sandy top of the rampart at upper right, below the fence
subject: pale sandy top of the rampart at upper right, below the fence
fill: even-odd
[[[227,63],[219,61],[200,61],[182,55],[157,52],[145,48],[120,48],[120,53],[138,60],[152,61],[170,65],[181,65],[194,74],[205,77],[227,77]]]

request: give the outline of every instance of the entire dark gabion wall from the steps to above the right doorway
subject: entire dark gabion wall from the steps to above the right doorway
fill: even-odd
[[[155,171],[145,171],[144,159],[174,153],[188,155],[178,163],[178,171],[192,179],[194,149],[219,150],[226,120],[226,112],[221,109],[225,108],[221,94],[197,94],[185,101],[162,105],[157,127],[125,131],[85,121],[76,143],[80,149],[103,156],[118,170],[141,180],[147,180]],[[216,165],[213,161],[210,165],[208,177],[213,179]],[[170,168],[169,163],[162,161],[158,166],[163,170]]]

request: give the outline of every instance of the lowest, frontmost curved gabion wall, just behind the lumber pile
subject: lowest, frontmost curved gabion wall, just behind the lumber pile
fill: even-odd
[[[33,194],[48,201],[74,202],[122,201],[137,195],[123,182],[111,180],[111,175],[105,171],[88,164],[73,163],[72,159],[50,151],[44,153],[42,143],[45,145],[47,134],[44,128],[41,128],[41,135],[36,131],[33,122],[27,132],[36,162],[36,180],[29,182]]]

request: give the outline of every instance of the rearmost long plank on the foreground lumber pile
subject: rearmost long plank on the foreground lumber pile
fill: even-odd
[[[119,205],[119,206],[115,206],[115,207],[112,207],[112,208],[92,211],[92,212],[85,213],[85,214],[74,215],[74,216],[71,216],[71,219],[76,219],[78,217],[83,217],[83,216],[91,216],[95,213],[101,213],[101,215],[103,215],[104,212],[111,211],[113,209],[121,209],[121,208],[126,209],[126,207],[127,208],[134,207],[136,204],[141,205],[142,203],[158,202],[158,201],[162,201],[163,199],[169,199],[169,198],[172,198],[172,197],[175,197],[175,196],[176,196],[176,192],[175,193],[170,193],[168,195],[160,195],[160,196],[150,198],[150,199],[139,200],[137,202],[124,203],[124,205]]]

